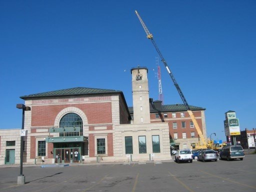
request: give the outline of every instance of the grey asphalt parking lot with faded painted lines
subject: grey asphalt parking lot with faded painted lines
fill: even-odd
[[[0,191],[256,191],[255,160],[24,165],[24,185],[19,167],[0,166]]]

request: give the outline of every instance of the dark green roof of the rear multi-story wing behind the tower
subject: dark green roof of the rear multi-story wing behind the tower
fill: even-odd
[[[189,105],[191,110],[205,110],[205,108],[199,107],[199,106],[192,106]],[[129,106],[128,107],[129,112],[132,114],[133,113],[133,107]],[[161,112],[174,112],[174,111],[187,111],[186,106],[184,104],[164,104],[161,105],[161,108],[159,108],[159,111]],[[153,109],[150,106],[150,113],[151,112],[158,112],[157,110]]]

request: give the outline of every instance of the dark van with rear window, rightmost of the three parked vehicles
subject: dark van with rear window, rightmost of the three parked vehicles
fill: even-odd
[[[242,160],[244,158],[243,148],[240,145],[223,146],[220,150],[219,158],[225,158],[226,160],[239,158],[240,160]]]

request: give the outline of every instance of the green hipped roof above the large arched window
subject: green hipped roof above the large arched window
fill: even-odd
[[[67,89],[60,89],[60,90],[53,90],[53,91],[48,91],[48,92],[29,94],[29,95],[20,96],[20,98],[27,99],[27,98],[35,98],[35,97],[88,95],[88,94],[104,94],[104,93],[121,93],[121,94],[123,94],[122,91],[120,91],[120,90],[75,87],[75,88],[67,88]]]

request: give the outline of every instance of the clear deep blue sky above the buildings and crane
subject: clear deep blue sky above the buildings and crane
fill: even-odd
[[[255,0],[1,0],[0,128],[20,128],[19,96],[72,87],[122,90],[146,66],[158,99],[153,34],[188,104],[206,108],[207,136],[223,139],[224,113],[256,127]],[[181,103],[159,61],[164,104]],[[124,70],[126,71],[124,72]],[[154,69],[154,70],[153,70]]]

